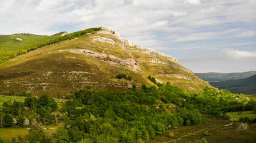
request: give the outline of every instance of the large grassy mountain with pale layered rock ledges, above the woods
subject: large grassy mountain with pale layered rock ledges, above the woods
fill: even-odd
[[[13,90],[16,94],[56,95],[84,88],[127,90],[132,85],[155,85],[149,75],[186,93],[212,87],[170,55],[123,39],[110,27],[74,32],[44,45],[0,64],[0,93]],[[115,78],[118,74],[132,79]]]

